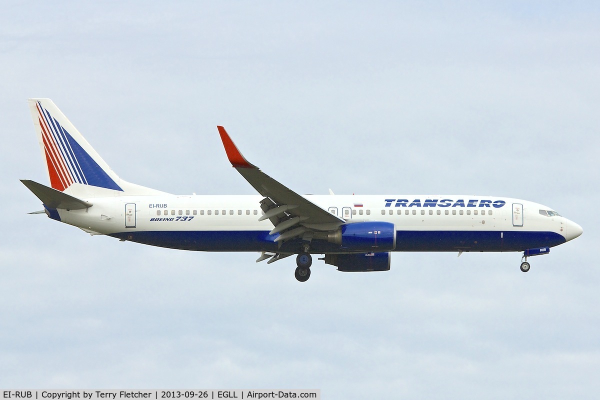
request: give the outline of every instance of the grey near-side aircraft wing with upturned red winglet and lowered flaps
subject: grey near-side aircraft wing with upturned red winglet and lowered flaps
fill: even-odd
[[[270,219],[273,222],[275,228],[271,234],[280,233],[275,241],[292,239],[313,229],[333,230],[346,223],[344,219],[322,209],[250,164],[233,143],[225,128],[217,128],[229,162],[258,193],[265,196],[261,201],[265,214],[259,220]]]

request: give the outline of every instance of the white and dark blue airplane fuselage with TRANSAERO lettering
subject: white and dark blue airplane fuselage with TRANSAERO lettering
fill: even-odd
[[[396,251],[522,251],[556,246],[580,227],[532,201],[482,196],[305,196],[347,222],[395,224]],[[91,233],[203,251],[275,251],[278,234],[260,196],[121,196],[92,199],[60,220]],[[550,216],[549,213],[550,212]],[[570,231],[570,232],[569,232]],[[313,252],[327,250],[314,246]]]

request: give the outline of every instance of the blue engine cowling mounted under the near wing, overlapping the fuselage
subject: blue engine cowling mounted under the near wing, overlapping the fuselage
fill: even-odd
[[[342,225],[341,247],[350,251],[392,251],[396,227],[391,222],[354,222]]]

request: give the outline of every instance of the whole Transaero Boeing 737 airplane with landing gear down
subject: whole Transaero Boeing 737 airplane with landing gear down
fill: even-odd
[[[295,277],[310,277],[313,254],[343,272],[385,271],[394,251],[523,252],[528,257],[583,233],[532,201],[463,195],[301,196],[241,154],[218,126],[230,164],[258,192],[175,195],[124,181],[47,98],[29,109],[50,187],[23,184],[49,218],[92,235],[193,251],[260,252],[273,263],[296,255]]]

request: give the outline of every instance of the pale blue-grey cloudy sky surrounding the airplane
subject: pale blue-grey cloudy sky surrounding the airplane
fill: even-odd
[[[0,386],[593,399],[600,383],[597,2],[5,1]],[[91,237],[44,215],[26,104],[123,179],[254,194],[216,125],[297,193],[545,204],[578,239],[394,253],[389,272]],[[394,197],[395,198],[395,197]]]

